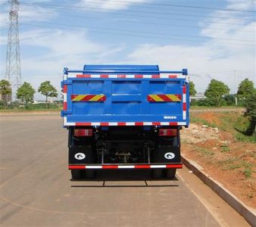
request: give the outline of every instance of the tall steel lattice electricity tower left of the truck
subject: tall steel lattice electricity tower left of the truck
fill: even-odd
[[[14,95],[17,89],[21,85],[19,23],[17,13],[20,2],[17,0],[9,0],[8,2],[10,3],[10,12],[5,79],[11,83],[12,95],[15,97]]]

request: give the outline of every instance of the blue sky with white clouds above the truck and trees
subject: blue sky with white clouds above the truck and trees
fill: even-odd
[[[60,92],[63,67],[158,64],[188,68],[198,92],[218,79],[232,93],[245,78],[256,84],[255,6],[254,0],[23,0],[22,81],[37,90],[51,80]],[[1,79],[8,11],[8,1],[0,0]]]

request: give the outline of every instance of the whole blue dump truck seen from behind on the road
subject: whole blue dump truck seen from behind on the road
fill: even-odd
[[[101,169],[151,169],[172,179],[182,168],[180,129],[189,126],[187,70],[158,65],[64,68],[64,127],[73,179]]]

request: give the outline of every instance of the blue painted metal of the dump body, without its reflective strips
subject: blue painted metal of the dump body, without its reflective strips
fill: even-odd
[[[111,71],[111,73],[110,73]],[[160,74],[158,66],[142,65],[86,65],[83,70],[65,70],[66,73],[97,74]],[[164,71],[183,73],[182,71]],[[91,74],[93,74],[91,73]],[[110,79],[110,78],[68,78],[67,111],[62,116],[67,122],[186,122],[189,125],[189,85],[186,79]],[[183,94],[186,86],[186,120],[183,119],[183,101],[148,102],[150,94]],[[71,101],[71,95],[104,94],[104,102]]]

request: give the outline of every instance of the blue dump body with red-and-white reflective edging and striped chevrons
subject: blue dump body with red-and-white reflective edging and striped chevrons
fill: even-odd
[[[83,73],[64,77],[64,126],[189,125],[189,89],[183,71],[88,65]]]

